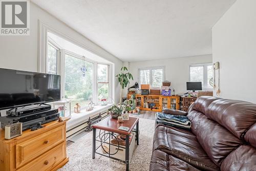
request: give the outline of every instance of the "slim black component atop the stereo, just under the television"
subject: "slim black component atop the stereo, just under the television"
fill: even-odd
[[[36,112],[41,112],[41,111],[48,111],[50,109],[51,109],[51,105],[41,104],[37,106],[25,106],[24,108],[20,108],[20,109],[17,109],[17,108],[11,109],[6,111],[6,114],[11,116],[21,116],[21,115],[28,115]]]

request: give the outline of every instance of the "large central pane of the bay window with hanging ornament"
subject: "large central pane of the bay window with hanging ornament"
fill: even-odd
[[[65,55],[65,98],[71,99],[71,110],[75,103],[81,108],[87,107],[93,98],[93,63],[85,62],[86,76],[82,76],[83,60],[74,56]]]

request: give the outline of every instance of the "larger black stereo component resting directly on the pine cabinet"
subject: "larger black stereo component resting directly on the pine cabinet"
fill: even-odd
[[[3,116],[0,117],[1,128],[4,129],[7,124],[22,122],[23,131],[30,129],[35,126],[37,123],[48,123],[59,118],[58,109],[51,109],[48,111],[42,111],[38,113],[33,113],[29,115],[21,116]]]

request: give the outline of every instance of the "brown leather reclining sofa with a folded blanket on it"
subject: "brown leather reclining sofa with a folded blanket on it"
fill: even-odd
[[[200,97],[190,131],[156,124],[150,170],[256,170],[256,104]]]

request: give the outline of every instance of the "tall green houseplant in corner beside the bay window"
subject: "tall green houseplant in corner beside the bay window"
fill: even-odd
[[[126,71],[126,72],[125,72]],[[122,90],[127,87],[127,84],[130,83],[130,80],[133,80],[133,75],[128,72],[126,67],[121,68],[121,73],[117,74],[116,77],[118,78],[118,82],[121,86],[120,89],[120,103],[122,101]]]

